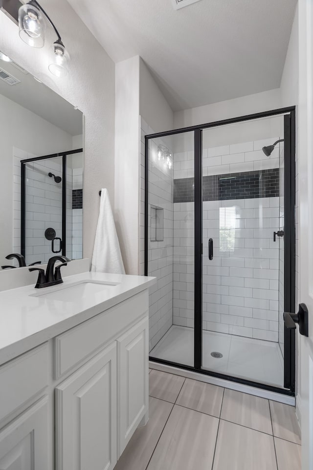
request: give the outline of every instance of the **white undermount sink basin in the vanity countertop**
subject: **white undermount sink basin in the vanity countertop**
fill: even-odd
[[[93,296],[104,292],[108,288],[118,285],[117,282],[80,281],[73,284],[60,284],[56,287],[43,288],[31,297],[42,297],[45,300],[59,300],[62,302],[77,301],[78,298]],[[45,289],[47,289],[45,291]]]

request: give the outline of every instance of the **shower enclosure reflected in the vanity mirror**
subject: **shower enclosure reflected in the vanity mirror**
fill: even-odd
[[[82,258],[83,149],[21,160],[20,174],[15,251],[27,265],[58,253]]]

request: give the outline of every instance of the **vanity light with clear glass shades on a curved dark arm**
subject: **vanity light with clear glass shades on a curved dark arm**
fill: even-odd
[[[28,46],[43,47],[45,44],[46,20],[51,24],[58,37],[50,52],[48,69],[56,77],[65,77],[69,61],[68,52],[59,31],[37,0],[30,0],[19,8],[20,37]]]

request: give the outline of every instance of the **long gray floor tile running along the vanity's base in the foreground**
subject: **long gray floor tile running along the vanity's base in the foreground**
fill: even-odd
[[[149,421],[136,429],[114,470],[146,470],[172,408],[172,403],[150,397]]]

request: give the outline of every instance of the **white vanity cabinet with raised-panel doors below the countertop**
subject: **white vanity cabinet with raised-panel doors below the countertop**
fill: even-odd
[[[148,289],[0,366],[0,470],[112,470],[148,420]]]

